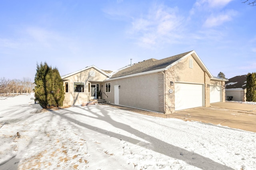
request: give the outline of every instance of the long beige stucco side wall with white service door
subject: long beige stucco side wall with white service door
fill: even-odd
[[[119,88],[119,105],[159,111],[158,73],[146,74],[130,78],[108,80],[111,83],[110,92],[104,92],[102,98],[107,103],[114,104],[114,86]]]

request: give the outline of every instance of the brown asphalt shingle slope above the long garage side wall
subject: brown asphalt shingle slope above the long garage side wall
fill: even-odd
[[[147,71],[153,71],[153,70],[158,70],[162,68],[166,68],[170,64],[174,63],[175,61],[181,59],[185,55],[187,55],[189,52],[182,53],[179,55],[174,55],[172,57],[168,57],[165,59],[157,60],[157,59],[148,59],[145,61],[142,61],[140,63],[134,64],[132,66],[129,66],[125,69],[122,69],[115,74],[112,75],[111,78],[117,78],[117,77],[122,77],[122,76],[128,76],[131,74],[137,74],[137,73],[142,73],[142,72],[147,72]]]

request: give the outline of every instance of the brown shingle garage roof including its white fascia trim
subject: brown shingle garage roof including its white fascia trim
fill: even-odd
[[[190,55],[192,55],[192,57],[200,65],[202,70],[204,70],[210,76],[211,80],[227,81],[226,79],[212,76],[210,71],[206,68],[206,66],[194,50],[161,60],[148,59],[137,64],[133,64],[132,66],[126,66],[125,68],[121,68],[120,70],[114,72],[110,79],[126,78],[130,76],[138,76],[142,74],[164,71]]]

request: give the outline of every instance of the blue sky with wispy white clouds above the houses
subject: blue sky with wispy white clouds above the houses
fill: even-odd
[[[241,0],[2,0],[0,77],[34,80],[195,50],[213,76],[256,72],[256,6]]]

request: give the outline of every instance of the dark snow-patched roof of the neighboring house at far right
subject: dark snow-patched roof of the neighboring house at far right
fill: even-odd
[[[226,89],[246,89],[246,83],[247,83],[247,75],[242,76],[235,76],[229,79],[228,82],[226,82],[225,86]]]

